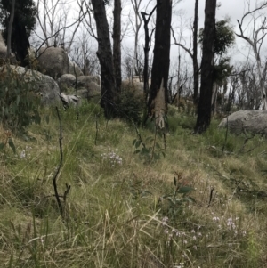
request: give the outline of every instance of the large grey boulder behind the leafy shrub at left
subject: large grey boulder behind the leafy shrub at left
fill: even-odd
[[[41,100],[44,104],[49,105],[54,102],[60,102],[60,88],[52,77],[45,76],[38,71],[25,69],[20,66],[10,65],[10,68],[11,69],[9,70],[6,66],[3,66],[0,68],[0,71],[12,72],[21,77],[25,82],[33,82],[34,85],[36,85],[36,92],[40,93]]]

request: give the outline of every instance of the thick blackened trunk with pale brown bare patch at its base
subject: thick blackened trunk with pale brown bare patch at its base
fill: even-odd
[[[160,128],[165,127],[164,116],[167,113],[172,4],[172,0],[157,0],[154,59],[151,71],[148,114],[151,118],[156,118],[156,125],[160,125]]]

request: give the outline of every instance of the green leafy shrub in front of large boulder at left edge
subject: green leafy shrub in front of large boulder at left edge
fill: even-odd
[[[40,124],[36,82],[26,82],[12,69],[2,69],[0,88],[0,120],[5,129],[25,132],[30,124]]]

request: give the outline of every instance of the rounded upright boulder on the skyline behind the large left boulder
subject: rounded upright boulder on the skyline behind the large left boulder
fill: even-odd
[[[69,57],[61,47],[41,47],[38,52],[39,70],[53,79],[69,74]]]

